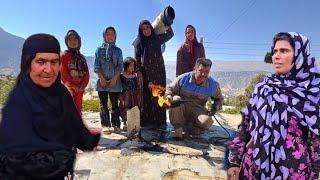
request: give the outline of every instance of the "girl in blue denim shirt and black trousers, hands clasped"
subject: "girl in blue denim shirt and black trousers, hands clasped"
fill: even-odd
[[[120,131],[119,94],[122,90],[120,73],[123,70],[122,51],[116,46],[116,30],[107,27],[103,32],[103,44],[97,48],[94,71],[98,75],[97,91],[100,99],[100,119],[104,132],[109,132],[111,126]],[[111,122],[108,109],[108,98],[111,101]]]

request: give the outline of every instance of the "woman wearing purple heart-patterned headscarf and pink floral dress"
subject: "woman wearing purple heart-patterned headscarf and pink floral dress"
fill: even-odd
[[[273,39],[275,74],[255,87],[229,145],[229,179],[318,179],[320,70],[299,33]]]

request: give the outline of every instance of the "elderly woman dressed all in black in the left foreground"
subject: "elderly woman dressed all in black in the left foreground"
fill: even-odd
[[[100,134],[84,126],[60,80],[60,45],[48,34],[26,39],[17,84],[2,109],[0,179],[64,179],[75,148],[92,150]]]

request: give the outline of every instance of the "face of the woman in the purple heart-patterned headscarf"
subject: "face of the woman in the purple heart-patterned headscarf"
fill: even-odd
[[[272,63],[277,74],[286,74],[291,70],[294,49],[288,41],[278,40],[273,49]]]

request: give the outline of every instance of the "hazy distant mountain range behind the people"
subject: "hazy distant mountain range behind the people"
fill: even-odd
[[[0,28],[0,74],[17,75],[24,39]],[[87,56],[90,69],[90,85],[95,86],[97,76],[93,72],[94,57]],[[318,62],[319,63],[319,62]],[[176,62],[165,61],[167,83],[175,78]],[[272,65],[261,61],[213,61],[210,75],[221,86],[225,97],[234,97],[244,91],[250,80],[259,73],[273,72]]]

